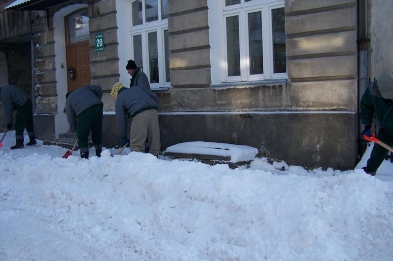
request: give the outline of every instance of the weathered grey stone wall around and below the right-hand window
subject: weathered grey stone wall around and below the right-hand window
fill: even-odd
[[[173,88],[159,97],[162,149],[205,140],[253,146],[310,168],[355,165],[356,1],[286,0],[288,81],[223,86],[208,86],[206,64],[218,57],[204,55],[206,1],[186,2],[181,10],[168,2]]]

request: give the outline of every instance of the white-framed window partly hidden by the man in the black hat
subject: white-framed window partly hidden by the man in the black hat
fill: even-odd
[[[170,85],[168,0],[131,0],[133,59],[150,87]]]

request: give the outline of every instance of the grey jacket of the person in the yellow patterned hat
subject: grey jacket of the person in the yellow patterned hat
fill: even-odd
[[[157,110],[157,102],[157,95],[141,86],[120,89],[115,104],[116,124],[120,137],[127,137],[126,115],[132,119],[142,111]]]

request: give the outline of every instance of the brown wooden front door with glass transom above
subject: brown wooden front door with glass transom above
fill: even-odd
[[[87,8],[65,17],[68,91],[91,84],[88,20]]]

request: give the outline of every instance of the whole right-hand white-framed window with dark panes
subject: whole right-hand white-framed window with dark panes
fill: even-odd
[[[221,82],[287,78],[284,0],[209,0],[208,4],[222,14],[216,15],[221,21],[209,15],[211,30],[223,32],[210,34],[212,59],[222,61],[215,70]]]

